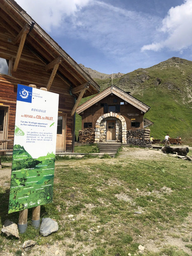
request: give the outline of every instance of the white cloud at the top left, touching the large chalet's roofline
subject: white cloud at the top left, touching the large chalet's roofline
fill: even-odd
[[[74,15],[90,0],[16,0],[40,26],[50,32],[61,26],[63,16]]]

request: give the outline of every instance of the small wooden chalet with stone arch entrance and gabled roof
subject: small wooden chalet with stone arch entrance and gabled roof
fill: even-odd
[[[126,143],[127,130],[144,128],[143,115],[150,109],[116,86],[80,105],[76,113],[82,116],[82,130],[95,129],[95,143]]]

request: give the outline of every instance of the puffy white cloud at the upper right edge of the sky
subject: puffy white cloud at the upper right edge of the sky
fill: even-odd
[[[192,46],[192,0],[176,7],[171,7],[157,30],[164,40],[144,45],[141,50],[160,51],[163,48],[179,51]]]

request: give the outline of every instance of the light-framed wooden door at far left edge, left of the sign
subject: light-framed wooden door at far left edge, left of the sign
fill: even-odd
[[[0,107],[0,139],[7,139],[8,107]],[[7,143],[2,143],[0,149],[6,149]]]

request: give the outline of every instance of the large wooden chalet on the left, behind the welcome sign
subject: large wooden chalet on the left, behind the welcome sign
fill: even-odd
[[[56,151],[73,151],[75,110],[100,87],[14,0],[0,0],[0,140],[11,140],[1,150],[13,148],[18,84],[59,94]]]

